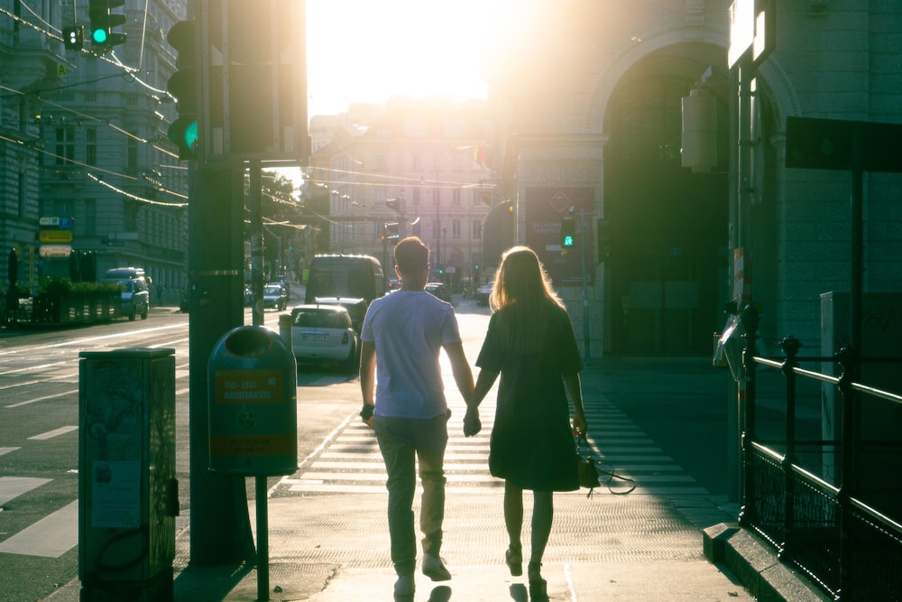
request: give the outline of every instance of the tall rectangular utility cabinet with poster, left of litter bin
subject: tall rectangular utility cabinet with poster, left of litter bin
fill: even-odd
[[[175,350],[78,357],[81,602],[172,600]]]

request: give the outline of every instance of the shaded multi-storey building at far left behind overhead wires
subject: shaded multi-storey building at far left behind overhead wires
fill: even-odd
[[[166,139],[175,112],[166,94],[175,69],[166,32],[184,17],[184,0],[128,0],[117,11],[126,16],[127,42],[102,56],[87,39],[76,51],[60,38],[76,23],[87,38],[87,3],[29,6],[33,13],[12,22],[18,36],[0,19],[0,85],[10,90],[0,106],[6,123],[18,123],[0,144],[8,171],[0,242],[22,250],[20,283],[33,288],[41,276],[70,275],[69,258],[41,256],[39,238],[41,218],[64,217],[72,218],[72,250],[96,256],[98,277],[111,267],[143,267],[165,301],[178,301],[188,168]]]

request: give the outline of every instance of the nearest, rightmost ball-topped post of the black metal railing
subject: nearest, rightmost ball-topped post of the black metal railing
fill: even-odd
[[[843,592],[851,591],[849,583],[848,559],[855,554],[851,543],[851,498],[858,493],[859,465],[859,407],[856,403],[856,395],[851,384],[858,377],[861,367],[861,357],[858,351],[850,346],[842,347],[835,354],[836,360],[842,366],[837,388],[842,394],[842,474],[838,485],[839,492],[836,501],[840,505],[840,587],[837,591],[837,600],[849,599],[843,597]]]

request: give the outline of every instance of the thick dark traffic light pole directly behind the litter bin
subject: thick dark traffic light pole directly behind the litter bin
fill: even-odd
[[[189,163],[190,562],[198,566],[253,559],[244,477],[211,473],[208,444],[208,358],[244,322],[242,175]]]

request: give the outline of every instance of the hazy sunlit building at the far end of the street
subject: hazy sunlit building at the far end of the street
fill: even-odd
[[[318,242],[308,252],[373,255],[391,278],[391,236],[415,235],[430,247],[432,280],[457,290],[475,282],[494,191],[483,153],[488,117],[482,101],[396,99],[365,116],[352,112],[340,126],[328,120],[308,187],[308,209],[319,200],[327,214],[313,226],[328,236],[311,237]],[[311,131],[326,123],[314,117]]]

